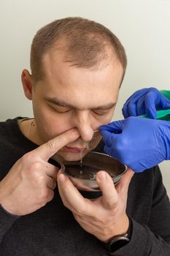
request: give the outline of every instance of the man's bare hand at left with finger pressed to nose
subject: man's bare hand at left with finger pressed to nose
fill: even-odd
[[[47,161],[79,136],[77,129],[71,129],[21,157],[0,182],[1,206],[11,214],[24,215],[52,200],[58,168]]]

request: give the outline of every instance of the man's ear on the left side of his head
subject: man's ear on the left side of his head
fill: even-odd
[[[28,70],[23,69],[23,72],[21,74],[21,80],[23,83],[23,91],[26,95],[27,99],[32,99],[32,91],[33,91],[33,81],[31,78],[31,74],[28,72]]]

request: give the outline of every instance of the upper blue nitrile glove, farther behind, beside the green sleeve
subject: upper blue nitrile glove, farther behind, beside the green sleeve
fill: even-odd
[[[147,114],[156,118],[156,110],[170,108],[170,100],[155,88],[146,88],[136,91],[123,105],[123,116],[140,116]]]

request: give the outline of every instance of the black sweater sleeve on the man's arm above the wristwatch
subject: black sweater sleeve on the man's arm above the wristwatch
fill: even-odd
[[[132,220],[130,242],[109,255],[170,255],[170,203],[158,166],[134,176],[129,198],[134,193],[126,209]]]

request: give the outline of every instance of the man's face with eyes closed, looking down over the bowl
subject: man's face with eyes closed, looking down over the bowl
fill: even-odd
[[[36,134],[45,143],[76,127],[80,138],[58,154],[67,161],[78,160],[98,145],[100,138],[93,139],[93,132],[111,121],[123,68],[114,59],[104,61],[98,69],[72,67],[61,53],[50,50],[43,69],[45,78],[32,90]]]

